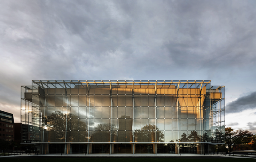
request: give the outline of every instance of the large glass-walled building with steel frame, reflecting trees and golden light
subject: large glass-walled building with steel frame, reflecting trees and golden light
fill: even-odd
[[[224,99],[210,80],[33,80],[21,86],[22,143],[42,154],[209,153],[224,143]]]

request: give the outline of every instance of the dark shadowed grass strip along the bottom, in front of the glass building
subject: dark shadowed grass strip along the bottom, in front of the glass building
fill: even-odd
[[[61,157],[61,156],[21,156],[0,158],[0,162],[255,162],[255,159],[238,159],[218,156],[186,156],[186,157]]]

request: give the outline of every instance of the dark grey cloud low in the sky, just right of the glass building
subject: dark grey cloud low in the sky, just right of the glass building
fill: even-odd
[[[238,113],[248,109],[256,108],[256,92],[244,95],[226,106],[226,113]]]

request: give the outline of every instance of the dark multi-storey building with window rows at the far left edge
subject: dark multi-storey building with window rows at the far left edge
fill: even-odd
[[[0,139],[12,141],[15,138],[15,124],[12,113],[0,110]]]

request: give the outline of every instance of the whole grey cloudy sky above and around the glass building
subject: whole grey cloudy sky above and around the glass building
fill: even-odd
[[[32,80],[212,80],[256,134],[255,0],[0,0],[0,110]]]

